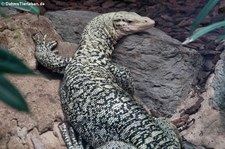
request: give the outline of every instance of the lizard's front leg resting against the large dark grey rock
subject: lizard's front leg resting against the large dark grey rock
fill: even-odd
[[[134,95],[133,79],[130,71],[126,67],[116,66],[114,64],[108,64],[107,68],[114,75],[116,83],[127,91],[130,95]]]

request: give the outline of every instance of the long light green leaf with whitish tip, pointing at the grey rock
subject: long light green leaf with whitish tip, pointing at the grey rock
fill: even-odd
[[[203,36],[204,34],[210,32],[214,29],[220,28],[222,26],[225,26],[225,21],[220,21],[217,23],[213,23],[209,26],[203,27],[202,29],[200,29],[199,31],[194,33],[192,36],[188,37],[182,44],[188,44],[188,43],[198,39],[199,37]]]

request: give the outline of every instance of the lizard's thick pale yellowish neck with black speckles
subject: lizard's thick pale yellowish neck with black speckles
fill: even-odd
[[[111,60],[116,38],[113,25],[105,23],[112,22],[110,18],[109,14],[106,17],[96,17],[85,27],[80,45],[74,54],[76,61],[106,65]]]

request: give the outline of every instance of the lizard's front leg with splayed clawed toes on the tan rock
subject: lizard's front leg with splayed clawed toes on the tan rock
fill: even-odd
[[[57,42],[51,41],[46,44],[46,35],[43,39],[38,34],[33,35],[32,38],[36,44],[35,57],[38,62],[54,72],[64,73],[65,67],[72,58],[56,55],[52,50],[57,46]]]

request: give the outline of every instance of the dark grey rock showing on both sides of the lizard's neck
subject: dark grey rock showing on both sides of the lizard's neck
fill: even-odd
[[[74,43],[79,43],[83,27],[96,15],[85,11],[46,13],[62,38]],[[180,46],[156,28],[123,38],[113,54],[113,62],[131,70],[135,94],[164,116],[171,116],[187,97],[201,61],[195,50]]]

